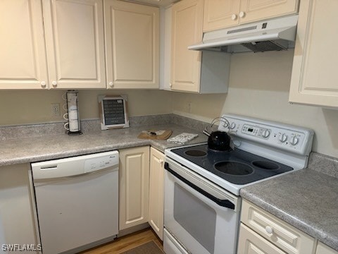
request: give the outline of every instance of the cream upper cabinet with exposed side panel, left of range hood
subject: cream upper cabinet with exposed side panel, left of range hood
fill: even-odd
[[[199,52],[187,47],[202,40],[203,0],[173,5],[170,89],[182,92],[227,92],[230,54]],[[202,60],[203,59],[203,60]]]

